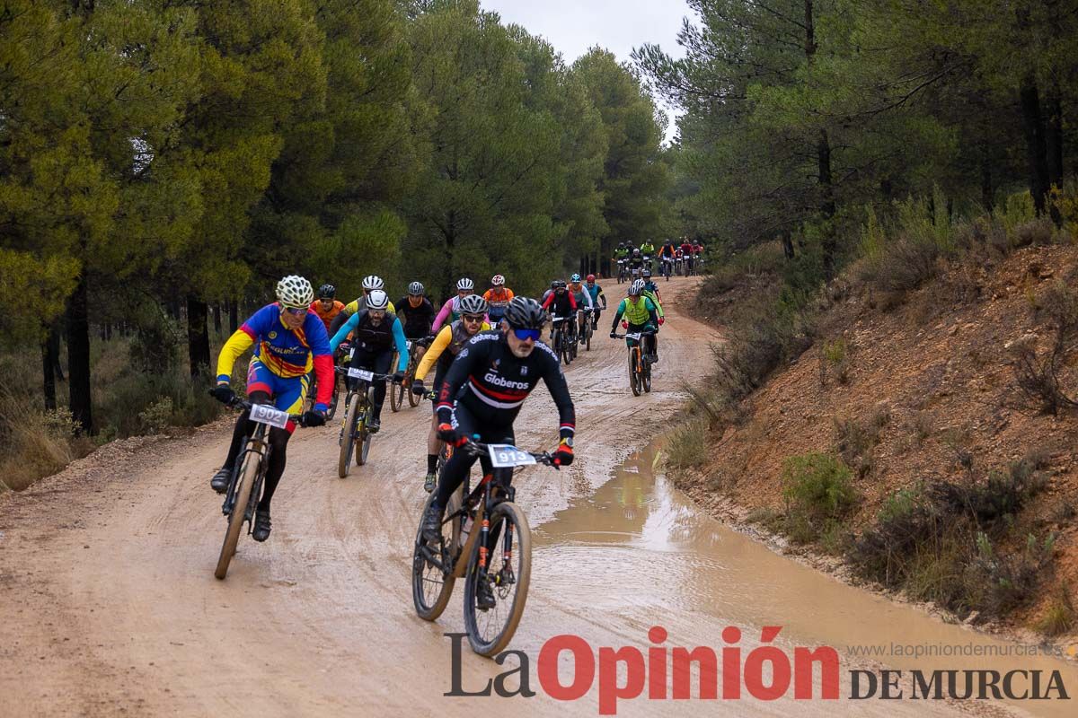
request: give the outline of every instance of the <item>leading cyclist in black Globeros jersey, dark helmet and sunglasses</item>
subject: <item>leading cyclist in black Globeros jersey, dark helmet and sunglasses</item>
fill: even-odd
[[[557,357],[550,347],[539,341],[545,321],[539,302],[516,297],[506,309],[500,332],[476,335],[457,354],[439,392],[439,438],[454,446],[460,446],[464,437],[475,435],[488,444],[514,444],[513,421],[541,379],[554,398],[561,422],[554,464],[568,466],[572,463],[576,411]],[[486,456],[478,459],[484,475],[489,473],[489,460]],[[457,451],[442,468],[438,493],[423,520],[426,540],[439,540],[442,511],[475,460],[470,452]],[[497,537],[490,539],[493,544]],[[494,607],[495,599],[487,581],[479,582],[476,599],[480,609]]]

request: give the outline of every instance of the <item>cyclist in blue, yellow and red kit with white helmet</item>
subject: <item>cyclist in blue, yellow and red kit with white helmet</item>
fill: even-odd
[[[321,426],[326,423],[330,390],[333,386],[333,360],[326,325],[309,310],[314,290],[303,277],[291,274],[277,282],[277,301],[258,310],[240,326],[221,348],[217,358],[217,386],[210,390],[215,398],[231,404],[236,398],[229,385],[236,360],[254,347],[254,355],[247,367],[247,395],[252,404],[270,404],[281,411],[299,412],[306,398],[307,372],[314,367],[318,376],[318,396],[315,406],[304,412],[303,423]],[[213,475],[210,487],[218,493],[229,489],[232,473],[245,436],[254,432],[249,411],[236,420],[232,444],[224,465]],[[295,424],[286,428],[270,430],[270,459],[266,465],[262,497],[254,512],[252,537],[264,541],[270,537],[270,502],[285,473],[288,439]]]

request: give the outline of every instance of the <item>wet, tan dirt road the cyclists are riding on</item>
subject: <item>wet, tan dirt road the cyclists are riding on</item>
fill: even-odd
[[[662,287],[673,295],[690,284]],[[606,288],[616,301],[617,283]],[[370,463],[344,480],[335,473],[336,428],[296,432],[274,502],[273,536],[263,545],[245,536],[225,581],[212,577],[224,522],[207,482],[224,455],[226,427],[134,441],[127,452],[100,452],[27,492],[0,497],[0,715],[469,715],[498,707],[594,716],[595,686],[571,702],[541,690],[536,659],[549,638],[568,633],[595,649],[644,649],[648,629],[661,624],[669,632],[667,646],[718,650],[722,629],[743,616],[715,609],[730,599],[719,595],[721,587],[715,595],[683,594],[691,563],[661,548],[612,540],[602,530],[602,505],[594,515],[575,515],[589,525],[551,529],[666,427],[680,402],[679,381],[704,371],[716,339],[709,328],[672,315],[661,335],[654,392],[635,398],[623,344],[602,328],[595,349],[567,370],[577,403],[577,463],[517,479],[539,539],[527,610],[510,648],[530,659],[534,698],[444,695],[452,690],[452,646],[443,634],[462,631],[461,591],[438,623],[427,623],[415,617],[410,589],[412,539],[426,497],[429,408],[392,414],[387,406]],[[517,444],[548,448],[555,430],[553,403],[540,385],[517,422]],[[701,529],[708,537],[719,535],[713,524]],[[796,590],[782,581],[780,573],[769,574],[759,595],[749,591],[737,603]],[[759,644],[761,623],[737,624],[747,653]],[[784,640],[775,643],[790,650],[805,645]],[[475,691],[519,660],[499,665],[465,648],[462,688]],[[561,667],[569,676],[566,664]],[[508,685],[514,688],[517,678]],[[792,690],[775,702],[639,699],[622,702],[619,715],[953,710],[940,702],[791,698]]]

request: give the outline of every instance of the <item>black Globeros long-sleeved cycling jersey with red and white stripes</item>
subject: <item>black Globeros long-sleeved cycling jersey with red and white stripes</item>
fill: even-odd
[[[438,397],[438,421],[453,423],[457,403],[483,424],[512,425],[540,379],[554,397],[561,437],[571,437],[577,414],[554,351],[537,341],[531,353],[520,358],[501,332],[481,332],[460,350],[445,375]]]

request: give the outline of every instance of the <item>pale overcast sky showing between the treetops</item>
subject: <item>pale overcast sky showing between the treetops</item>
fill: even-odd
[[[685,0],[480,0],[485,10],[501,15],[503,25],[523,25],[531,34],[540,34],[562,53],[567,65],[599,45],[612,52],[619,61],[631,61],[630,53],[646,42],[662,46],[668,55],[680,57],[677,44],[681,19],[689,15]],[[658,98],[657,98],[658,99]],[[666,141],[674,137],[671,116]]]

